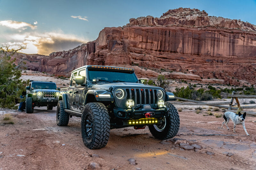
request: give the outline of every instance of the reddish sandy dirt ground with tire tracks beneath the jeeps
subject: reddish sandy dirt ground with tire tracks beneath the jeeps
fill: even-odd
[[[200,152],[183,150],[170,140],[155,139],[148,128],[132,127],[112,129],[105,148],[90,150],[82,141],[80,118],[70,118],[67,127],[59,127],[56,107],[52,111],[35,107],[33,114],[0,109],[1,120],[4,114],[10,113],[14,121],[14,124],[0,125],[0,170],[91,169],[91,162],[100,164],[96,169],[108,170],[256,169],[255,117],[245,119],[251,135],[246,136],[241,125],[233,133],[232,122],[230,130],[221,129],[222,117],[207,115],[206,110],[196,114],[191,109],[179,112],[180,131],[176,138],[202,146]],[[207,134],[237,136],[199,136]],[[229,157],[227,153],[233,155]],[[98,154],[99,158],[91,157],[92,154]],[[136,160],[136,165],[130,164],[130,158]]]

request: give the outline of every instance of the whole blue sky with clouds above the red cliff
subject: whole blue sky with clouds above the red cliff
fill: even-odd
[[[124,26],[140,16],[160,17],[179,7],[256,25],[256,0],[0,0],[0,44],[26,44],[24,53],[48,55],[93,41],[104,27]]]

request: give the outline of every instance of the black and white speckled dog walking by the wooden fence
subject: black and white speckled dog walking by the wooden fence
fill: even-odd
[[[234,133],[236,133],[236,131],[235,131],[236,130],[236,125],[237,124],[242,124],[246,135],[250,136],[247,133],[247,130],[246,130],[245,126],[244,126],[245,116],[246,116],[245,112],[244,112],[243,115],[240,112],[238,112],[238,115],[233,113],[233,112],[225,112],[224,115],[223,115],[223,118],[225,119],[225,121],[222,123],[221,128],[222,128],[223,124],[226,123],[227,129],[229,130],[228,122],[229,122],[229,119],[231,119],[233,121],[233,123],[234,123],[234,131],[233,131]]]

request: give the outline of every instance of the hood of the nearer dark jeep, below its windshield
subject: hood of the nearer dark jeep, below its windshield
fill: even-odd
[[[154,89],[162,89],[161,87],[154,85],[144,85],[141,83],[97,83],[88,85],[88,89],[101,89],[101,90],[109,90],[110,88],[154,88]]]

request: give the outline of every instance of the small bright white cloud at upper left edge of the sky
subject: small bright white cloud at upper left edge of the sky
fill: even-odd
[[[12,20],[0,21],[0,25],[7,26],[9,28],[14,28],[14,29],[22,29],[22,30],[27,29],[27,27],[30,27],[32,30],[34,30],[37,27],[26,22],[12,21]]]

